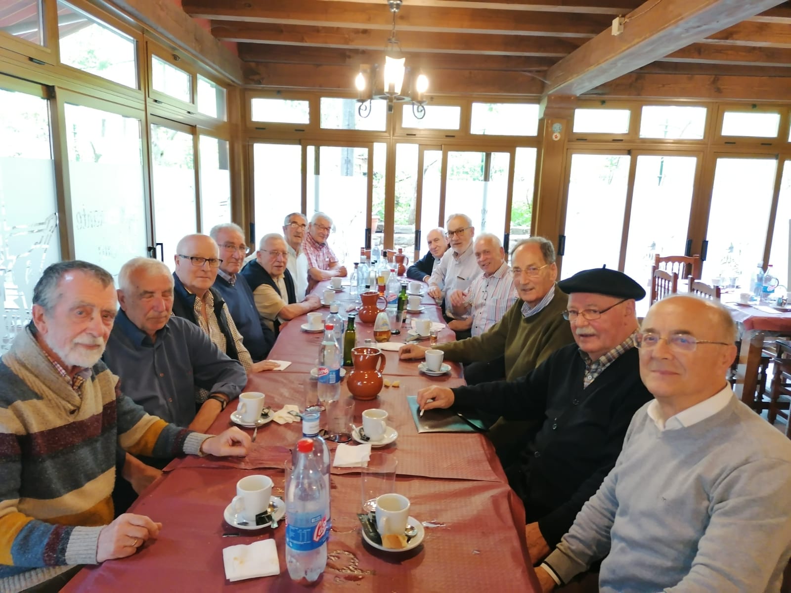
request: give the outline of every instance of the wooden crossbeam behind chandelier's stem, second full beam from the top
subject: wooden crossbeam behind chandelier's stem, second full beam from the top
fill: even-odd
[[[241,43],[274,43],[316,47],[347,47],[381,50],[389,33],[378,29],[343,27],[311,27],[306,25],[277,25],[272,23],[214,22],[212,34],[221,40]],[[537,55],[561,58],[580,47],[577,38],[547,38],[521,35],[475,35],[473,33],[399,32],[401,49],[435,51],[441,53],[487,55]]]

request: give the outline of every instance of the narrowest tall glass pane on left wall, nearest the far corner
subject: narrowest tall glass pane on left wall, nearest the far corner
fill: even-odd
[[[208,234],[214,225],[231,221],[231,172],[228,164],[228,142],[201,136],[200,195],[202,232]]]

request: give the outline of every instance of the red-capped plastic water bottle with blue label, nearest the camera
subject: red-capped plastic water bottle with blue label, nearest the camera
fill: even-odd
[[[312,583],[327,568],[329,502],[313,440],[300,439],[286,492],[286,566],[292,580]]]

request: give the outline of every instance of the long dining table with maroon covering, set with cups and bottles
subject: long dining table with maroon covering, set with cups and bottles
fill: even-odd
[[[406,281],[406,280],[405,280]],[[321,294],[322,282],[314,293]],[[348,285],[336,294],[340,310],[354,307]],[[422,292],[422,312],[408,313],[400,335],[407,338],[410,319],[444,323],[441,310]],[[323,308],[327,313],[328,309]],[[301,330],[303,315],[282,327],[270,353],[273,360],[290,361],[283,371],[251,375],[245,391],[262,391],[267,406],[305,403],[310,370],[316,363],[322,334]],[[356,323],[358,344],[373,338],[371,324]],[[439,342],[454,339],[447,327]],[[63,591],[540,591],[524,543],[524,507],[508,485],[494,448],[479,432],[418,433],[407,395],[422,387],[464,384],[460,365],[451,363],[445,376],[418,372],[418,361],[400,361],[397,352],[384,352],[385,379],[399,387],[383,387],[376,399],[354,400],[354,424],[369,408],[388,411],[388,423],[398,431],[394,443],[373,451],[397,460],[395,489],[411,500],[410,515],[424,526],[423,542],[407,552],[384,552],[361,538],[360,468],[331,468],[331,533],[327,569],[306,585],[290,579],[286,569],[285,525],[276,529],[241,531],[223,519],[223,510],[236,493],[237,481],[248,474],[267,474],[274,496],[284,497],[285,463],[301,436],[301,423],[263,425],[244,458],[187,456],[173,460],[160,478],[138,498],[129,512],[163,523],[159,537],[132,557],[83,568]],[[341,398],[350,397],[346,381]],[[232,425],[227,406],[211,426],[217,434]],[[248,432],[252,432],[252,430]],[[331,455],[337,445],[328,442]],[[354,441],[352,441],[354,444]],[[226,534],[226,537],[224,537]],[[227,537],[227,534],[235,534]],[[274,538],[280,574],[229,582],[222,550]]]

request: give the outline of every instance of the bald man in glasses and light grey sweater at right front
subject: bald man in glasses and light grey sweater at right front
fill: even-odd
[[[780,591],[791,556],[791,441],[725,380],[735,334],[713,301],[673,296],[649,310],[638,348],[654,399],[536,569],[543,591],[603,557],[600,591]]]

